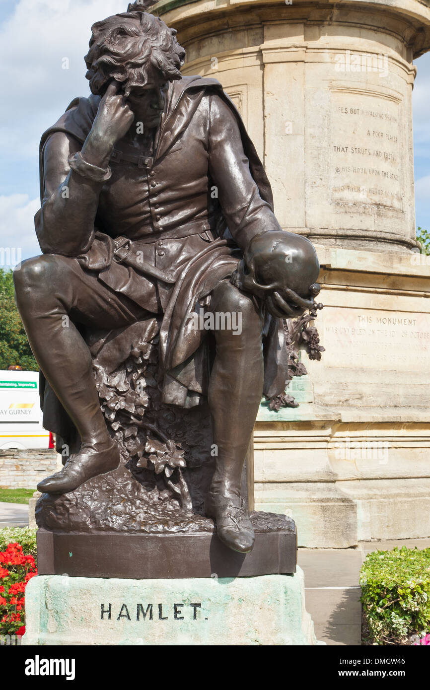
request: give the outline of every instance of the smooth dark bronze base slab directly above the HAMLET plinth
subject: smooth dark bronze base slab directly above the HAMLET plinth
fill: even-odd
[[[297,531],[293,520],[285,529],[255,534],[251,553],[231,551],[216,533],[70,533],[37,531],[39,575],[81,578],[246,577],[295,573]]]

